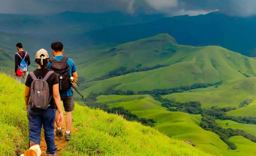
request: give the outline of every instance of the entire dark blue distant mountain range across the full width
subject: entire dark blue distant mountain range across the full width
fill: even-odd
[[[168,33],[182,45],[222,46],[254,57],[255,27],[256,16],[230,17],[218,11],[170,18],[164,18],[163,14],[129,15],[121,12],[95,14],[67,11],[41,16],[0,14],[1,32],[27,35],[37,38],[35,42],[39,43],[59,40],[73,49],[99,44],[119,45]]]

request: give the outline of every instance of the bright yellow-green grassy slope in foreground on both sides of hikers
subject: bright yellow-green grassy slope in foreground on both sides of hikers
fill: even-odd
[[[0,74],[0,79],[0,151],[3,155],[20,155],[28,145],[24,86],[5,74]],[[78,132],[63,151],[64,156],[209,155],[153,128],[79,105],[74,111],[74,125]]]

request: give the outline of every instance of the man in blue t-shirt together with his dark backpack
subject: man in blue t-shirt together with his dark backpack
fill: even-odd
[[[63,56],[63,44],[61,42],[53,42],[51,44],[53,58],[50,59],[47,67],[48,69],[57,72],[60,82],[60,97],[64,105],[64,110],[66,112],[66,132],[65,140],[69,141],[71,137],[71,124],[72,124],[72,111],[75,109],[75,103],[73,98],[73,88],[70,81],[70,77],[74,78],[73,84],[76,86],[76,80],[78,78],[76,65],[74,61],[67,56]],[[57,63],[56,63],[57,62]],[[61,63],[61,64],[60,64]],[[56,112],[56,124],[58,112]],[[56,136],[63,136],[63,131],[61,124],[57,124]]]

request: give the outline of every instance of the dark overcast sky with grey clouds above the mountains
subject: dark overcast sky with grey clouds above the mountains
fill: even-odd
[[[63,11],[198,15],[219,10],[233,16],[256,14],[256,0],[0,0],[0,13],[52,14]]]

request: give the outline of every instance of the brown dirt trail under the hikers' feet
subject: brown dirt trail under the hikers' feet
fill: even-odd
[[[65,138],[64,138],[65,131],[66,131],[66,122],[65,122],[66,115],[65,115],[65,113],[63,114],[63,116],[64,116],[64,122],[61,125],[61,127],[63,129],[63,136],[62,137],[56,137],[56,135],[55,135],[55,145],[57,147],[57,155],[58,156],[60,156],[61,150],[63,150],[67,146],[67,142],[65,141]],[[55,124],[54,125],[54,134],[55,134],[56,127],[57,126]],[[47,154],[46,154],[46,142],[44,140],[44,130],[42,130],[42,133],[41,133],[41,145],[44,146],[42,148],[42,155],[41,156],[46,156]]]

